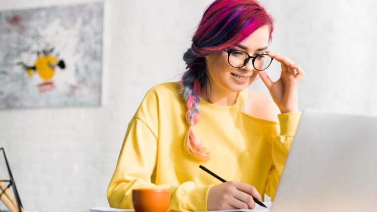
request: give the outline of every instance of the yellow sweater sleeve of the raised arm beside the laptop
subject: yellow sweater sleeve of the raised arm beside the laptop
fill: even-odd
[[[296,134],[301,112],[283,113],[278,115],[280,134],[272,141],[272,162],[265,192],[273,201],[280,176],[284,169],[285,160],[291,149]]]

